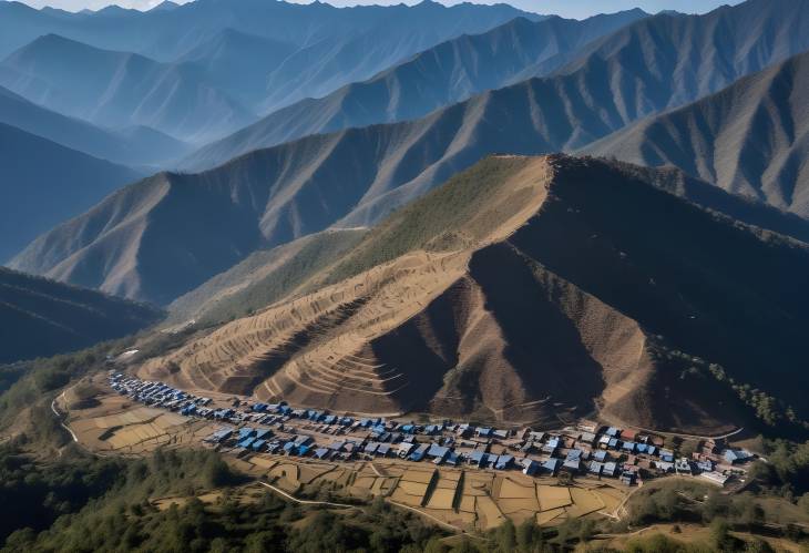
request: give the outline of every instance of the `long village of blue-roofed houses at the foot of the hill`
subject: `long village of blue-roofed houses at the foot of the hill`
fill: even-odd
[[[720,450],[714,442],[704,443],[692,459],[675,458],[659,437],[588,422],[560,432],[541,432],[452,421],[418,424],[355,418],[294,409],[286,402],[243,404],[235,400],[229,408],[209,408],[208,398],[191,396],[162,382],[120,373],[111,373],[110,382],[119,393],[136,401],[229,423],[204,441],[229,448],[239,457],[272,453],[339,461],[390,457],[481,469],[520,469],[529,475],[588,473],[617,478],[627,485],[646,474],[665,473],[696,474],[724,485],[730,471],[718,469],[751,458],[746,451]]]

